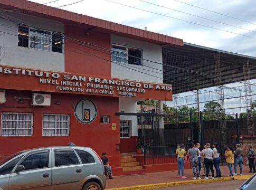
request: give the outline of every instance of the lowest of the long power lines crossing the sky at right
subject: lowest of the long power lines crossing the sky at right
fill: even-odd
[[[228,32],[228,33],[231,33],[231,34],[236,34],[236,35],[240,35],[240,36],[244,36],[244,37],[249,37],[251,39],[256,39],[256,37],[253,37],[253,36],[248,36],[248,35],[239,34],[239,33],[231,32],[231,31],[223,30],[223,29],[218,29],[218,28],[213,27],[213,26],[207,26],[207,25],[196,23],[196,22],[192,22],[192,21],[186,21],[186,20],[183,20],[181,18],[176,18],[176,17],[173,17],[173,16],[168,16],[168,15],[165,15],[165,14],[161,14],[161,13],[156,13],[156,12],[153,12],[153,11],[147,11],[147,10],[142,9],[142,8],[137,8],[137,7],[134,7],[134,6],[125,5],[125,4],[121,4],[121,3],[117,3],[117,2],[113,2],[113,1],[109,1],[109,0],[105,0],[105,1],[110,2],[110,3],[115,3],[115,4],[118,4],[118,5],[122,5],[122,6],[126,6],[126,7],[130,7],[130,8],[134,8],[134,9],[138,9],[140,11],[156,14],[156,15],[159,15],[159,16],[173,18],[173,19],[178,20],[178,21],[183,21],[183,22],[187,22],[187,23],[191,23],[191,24],[196,24],[196,25],[199,25],[199,26],[207,27],[209,29],[219,30],[219,31],[222,31],[222,32]]]

